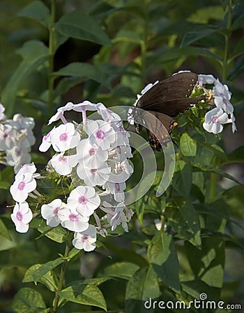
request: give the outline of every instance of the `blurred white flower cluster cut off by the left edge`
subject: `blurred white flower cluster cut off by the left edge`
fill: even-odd
[[[31,145],[36,141],[33,136],[33,118],[24,118],[15,114],[8,120],[5,108],[0,104],[0,163],[13,166],[15,173],[20,167],[31,161]]]

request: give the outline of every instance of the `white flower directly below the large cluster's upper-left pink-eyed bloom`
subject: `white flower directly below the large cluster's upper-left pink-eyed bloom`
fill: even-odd
[[[77,156],[63,155],[64,152],[55,154],[50,160],[51,166],[59,175],[69,175],[72,169],[77,165]]]

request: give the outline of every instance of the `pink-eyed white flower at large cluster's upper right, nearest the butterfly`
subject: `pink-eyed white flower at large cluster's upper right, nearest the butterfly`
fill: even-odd
[[[103,120],[89,120],[86,124],[86,133],[91,145],[97,145],[102,150],[109,149],[116,137],[112,126]]]

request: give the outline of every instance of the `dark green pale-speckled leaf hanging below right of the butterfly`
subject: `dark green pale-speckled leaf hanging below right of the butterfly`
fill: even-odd
[[[183,239],[191,239],[195,246],[201,245],[200,223],[197,211],[190,201],[184,198],[174,198],[176,207],[165,210],[165,216],[173,230],[183,236]]]

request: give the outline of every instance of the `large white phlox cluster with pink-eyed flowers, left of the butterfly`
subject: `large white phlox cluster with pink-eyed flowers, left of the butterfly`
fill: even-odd
[[[82,113],[81,124],[66,120],[64,113],[70,110]],[[86,111],[97,111],[101,119],[86,118]],[[132,210],[124,201],[125,182],[133,172],[128,161],[132,157],[130,134],[119,115],[102,103],[68,102],[50,118],[49,125],[58,120],[62,124],[43,137],[39,150],[46,152],[52,147],[56,153],[47,170],[70,177],[73,183],[66,202],[56,198],[43,204],[40,213],[47,225],[61,225],[74,232],[75,248],[91,251],[96,248],[97,235],[107,236],[109,227],[114,231],[121,224],[128,232]],[[33,164],[23,166],[10,187],[16,201],[11,218],[19,232],[29,228],[32,213],[26,198],[38,197],[36,178],[40,175]]]

